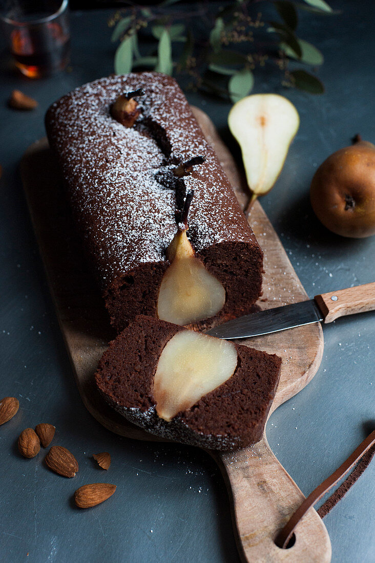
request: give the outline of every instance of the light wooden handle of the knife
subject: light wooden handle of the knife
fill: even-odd
[[[331,323],[340,316],[353,315],[375,309],[375,282],[322,293],[314,297],[324,316]]]

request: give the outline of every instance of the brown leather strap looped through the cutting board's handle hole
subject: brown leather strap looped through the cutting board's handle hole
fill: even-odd
[[[323,483],[317,486],[316,489],[313,490],[310,495],[308,495],[308,497],[305,499],[305,501],[303,501],[301,506],[294,512],[293,516],[286,523],[284,528],[277,534],[277,537],[275,539],[276,546],[279,546],[281,548],[285,548],[286,546],[288,546],[289,540],[292,537],[295,526],[297,526],[298,522],[303,518],[303,516],[305,516],[308,509],[314,506],[314,504],[317,501],[319,501],[322,497],[324,497],[324,495],[330,489],[332,489],[334,485],[337,485],[337,483],[341,481],[341,479],[345,477],[345,475],[355,466],[355,464],[358,463],[360,459],[363,458],[364,455],[368,452],[368,455],[364,460],[367,463],[363,463],[361,467],[358,466],[356,470],[351,473],[348,479],[345,482],[343,482],[342,485],[337,489],[336,493],[334,493],[332,497],[330,497],[320,508],[320,511],[323,512],[323,516],[328,514],[331,508],[333,508],[335,504],[339,501],[339,499],[342,498],[343,495],[345,495],[347,490],[351,487],[352,484],[354,484],[354,482],[358,479],[358,477],[363,473],[367,465],[370,463],[375,453],[374,444],[375,444],[375,430],[371,432],[371,434],[365,440],[363,440],[363,442],[358,446],[358,448],[354,450],[354,452],[347,458],[347,460],[336,471],[334,471],[332,475],[330,475],[325,481],[323,481]],[[350,484],[348,484],[347,481],[350,481]]]

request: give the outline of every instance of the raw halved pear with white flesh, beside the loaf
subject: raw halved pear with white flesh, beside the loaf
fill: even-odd
[[[284,96],[254,94],[233,106],[228,125],[241,147],[254,201],[271,189],[284,166],[298,131],[298,111]]]

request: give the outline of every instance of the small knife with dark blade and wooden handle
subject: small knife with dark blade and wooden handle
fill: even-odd
[[[340,316],[375,309],[375,282],[316,295],[310,301],[292,303],[229,320],[205,334],[232,340],[250,338],[302,327],[311,323],[331,323]]]

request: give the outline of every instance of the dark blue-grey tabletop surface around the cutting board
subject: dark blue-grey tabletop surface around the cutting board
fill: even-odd
[[[324,229],[312,215],[308,186],[317,166],[349,144],[354,133],[375,141],[373,3],[330,2],[342,15],[303,16],[300,36],[325,56],[323,96],[280,89],[297,106],[301,127],[275,188],[262,205],[310,297],[374,280],[374,238],[350,240]],[[19,160],[43,136],[50,102],[84,82],[112,72],[109,12],[72,16],[72,70],[29,81],[2,56],[0,97],[1,324],[0,396],[19,397],[20,411],[0,428],[1,561],[238,560],[230,507],[220,473],[194,448],[140,443],[111,434],[83,406],[56,322],[19,177]],[[263,82],[262,82],[263,81]],[[255,91],[269,91],[267,76]],[[12,88],[36,97],[39,108],[6,108]],[[188,93],[236,151],[226,127],[229,104]],[[236,152],[236,154],[238,154]],[[261,241],[262,243],[262,241]],[[281,406],[267,436],[280,462],[306,495],[372,430],[374,316],[339,319],[324,327],[324,356],[308,387]],[[20,431],[51,422],[55,444],[80,463],[74,479],[26,460],[16,449]],[[109,451],[108,472],[91,454]],[[333,561],[375,561],[375,462],[325,519]],[[117,485],[111,499],[87,511],[72,494],[87,482]],[[29,556],[27,557],[27,553]]]

